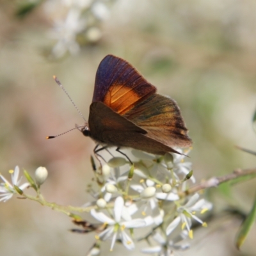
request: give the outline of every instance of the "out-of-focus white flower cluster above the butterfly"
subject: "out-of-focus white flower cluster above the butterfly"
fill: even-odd
[[[77,54],[80,45],[101,38],[99,23],[109,17],[108,2],[103,0],[48,0],[45,13],[52,20],[49,36],[55,41],[52,56]]]

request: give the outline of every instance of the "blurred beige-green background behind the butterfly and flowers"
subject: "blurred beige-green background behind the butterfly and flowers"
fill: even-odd
[[[198,182],[255,167],[255,156],[235,147],[256,150],[255,1],[95,2],[108,9],[108,19],[90,18],[99,38],[85,40],[81,33],[77,54],[54,58],[49,31],[67,12],[61,7],[65,1],[42,1],[23,19],[15,15],[21,1],[1,1],[0,172],[8,177],[8,170],[19,165],[33,175],[45,166],[49,179],[42,193],[48,201],[79,206],[92,200],[86,184],[92,179],[93,141],[78,131],[49,141],[45,136],[83,124],[52,75],[87,118],[95,72],[107,54],[129,61],[159,93],[177,100],[193,139],[189,161]],[[232,198],[220,189],[207,195],[216,212],[227,205],[248,212],[255,188],[256,181],[250,180],[235,186]],[[255,255],[256,227],[242,252],[235,249],[240,222],[220,216],[208,228],[196,230],[193,248],[178,255]],[[0,255],[86,255],[93,234],[68,232],[73,227],[59,212],[12,198],[0,204]],[[120,255],[120,250],[117,245],[111,255]],[[138,250],[122,253],[140,255]]]

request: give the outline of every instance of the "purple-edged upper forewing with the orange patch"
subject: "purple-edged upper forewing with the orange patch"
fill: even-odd
[[[155,92],[156,87],[127,61],[108,55],[97,70],[92,101],[103,102],[116,113],[124,115]]]

